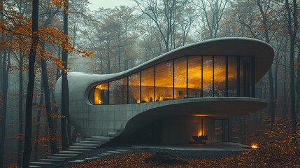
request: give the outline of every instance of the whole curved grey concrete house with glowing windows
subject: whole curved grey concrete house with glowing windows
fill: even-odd
[[[273,56],[263,41],[215,38],[120,73],[71,72],[71,123],[85,137],[122,130],[123,138],[161,144],[186,144],[194,135],[229,141],[228,118],[268,106],[266,99],[255,98],[255,83]],[[57,103],[60,97],[61,79]]]

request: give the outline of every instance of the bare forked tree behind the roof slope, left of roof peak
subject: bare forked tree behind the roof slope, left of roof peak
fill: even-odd
[[[165,52],[177,48],[182,45],[183,41],[180,38],[186,38],[186,34],[190,29],[184,29],[185,35],[180,31],[182,27],[178,24],[180,18],[183,18],[183,11],[186,9],[187,4],[192,3],[190,0],[134,0],[138,8],[144,15],[147,15],[156,25],[159,34],[165,45]],[[190,20],[190,22],[193,20]],[[187,25],[191,25],[187,22]],[[182,22],[183,23],[183,22]],[[189,27],[189,26],[187,26]]]

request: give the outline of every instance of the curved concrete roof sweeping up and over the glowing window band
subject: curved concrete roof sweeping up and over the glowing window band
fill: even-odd
[[[226,37],[226,38],[213,38],[198,43],[192,43],[185,45],[175,50],[159,55],[154,59],[150,59],[148,62],[144,62],[138,66],[127,71],[112,74],[96,75],[101,83],[107,81],[123,78],[130,74],[136,73],[143,69],[147,69],[150,66],[165,62],[171,59],[175,59],[183,56],[254,56],[255,57],[255,82],[258,82],[266,71],[269,70],[274,57],[274,51],[271,45],[264,41],[257,40],[255,38],[245,37]],[[99,82],[97,82],[99,83]],[[96,85],[96,83],[94,84]]]

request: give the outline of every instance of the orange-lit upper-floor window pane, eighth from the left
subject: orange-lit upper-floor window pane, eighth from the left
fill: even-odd
[[[203,57],[203,97],[213,97],[213,57]]]

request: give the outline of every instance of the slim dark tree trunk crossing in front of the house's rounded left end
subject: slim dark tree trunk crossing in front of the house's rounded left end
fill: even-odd
[[[68,14],[69,13],[69,1],[64,1],[64,34],[68,35]],[[68,42],[68,38],[66,38],[66,42]],[[68,51],[62,48],[62,62],[64,69],[62,70],[62,150],[66,150],[69,148],[68,142],[68,133],[67,132],[67,125],[66,125],[66,117],[69,113],[69,90],[68,90]],[[68,120],[68,130],[69,130],[69,123]]]

